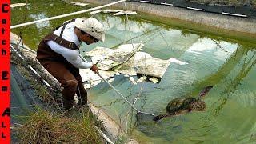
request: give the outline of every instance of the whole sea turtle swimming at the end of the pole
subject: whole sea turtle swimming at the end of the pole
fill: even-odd
[[[199,98],[175,98],[166,106],[166,113],[154,117],[154,122],[166,117],[171,117],[179,114],[186,114],[192,110],[204,111],[206,110],[206,103],[202,101],[202,98],[212,89],[213,86],[206,86],[199,93]]]

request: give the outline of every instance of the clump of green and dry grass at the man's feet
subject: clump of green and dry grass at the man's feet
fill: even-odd
[[[89,114],[83,116],[68,118],[38,109],[14,130],[21,143],[102,143],[102,136],[94,128],[94,118]]]

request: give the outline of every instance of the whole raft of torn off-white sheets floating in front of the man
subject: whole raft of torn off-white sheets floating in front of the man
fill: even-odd
[[[106,47],[96,47],[94,50],[87,52],[86,55],[91,57],[93,63],[98,62],[99,74],[103,78],[111,82],[114,80],[114,75],[124,74],[135,85],[147,78],[150,82],[157,83],[158,78],[162,78],[171,62],[178,65],[187,64],[176,58],[162,60],[153,58],[145,52],[138,52],[142,49],[142,46],[144,46],[142,43],[126,44],[118,46],[118,49],[114,50]],[[87,81],[86,88],[96,86],[102,81],[98,74],[94,74],[90,69],[80,70],[80,74],[83,81]],[[131,76],[137,74],[143,76],[135,82]]]

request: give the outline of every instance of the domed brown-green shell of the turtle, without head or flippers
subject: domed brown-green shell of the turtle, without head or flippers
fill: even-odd
[[[174,114],[183,110],[190,110],[190,103],[198,101],[197,98],[175,98],[166,106],[166,113]]]

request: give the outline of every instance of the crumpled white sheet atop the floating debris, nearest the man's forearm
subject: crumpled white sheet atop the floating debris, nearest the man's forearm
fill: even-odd
[[[128,61],[138,50],[142,49],[142,46],[144,46],[142,43],[126,44],[118,46],[118,49],[115,50],[96,47],[87,52],[86,55],[92,57],[94,63],[98,61],[97,66],[100,70],[110,70],[114,66]]]

